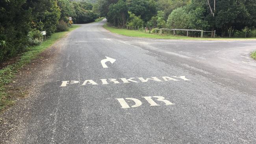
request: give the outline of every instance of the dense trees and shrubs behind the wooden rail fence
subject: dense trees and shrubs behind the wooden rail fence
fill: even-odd
[[[98,0],[93,10],[123,28],[216,30],[221,37],[247,31],[256,36],[256,0]]]

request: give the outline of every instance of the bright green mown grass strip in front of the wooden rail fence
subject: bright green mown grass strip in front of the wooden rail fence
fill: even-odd
[[[155,38],[155,39],[210,40],[210,41],[256,40],[256,38],[246,38],[246,39],[245,38],[198,38],[198,37],[186,37],[186,36],[178,36],[178,35],[157,35],[157,34],[145,33],[144,31],[114,28],[114,27],[108,26],[107,24],[104,24],[103,27],[113,33],[126,35],[130,37],[145,37],[145,38]]]

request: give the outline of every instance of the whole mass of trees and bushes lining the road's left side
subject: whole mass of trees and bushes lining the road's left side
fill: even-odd
[[[46,31],[47,37],[67,31],[68,17],[75,24],[94,21],[98,14],[92,9],[92,4],[70,0],[1,0],[0,63],[41,44],[40,31]]]

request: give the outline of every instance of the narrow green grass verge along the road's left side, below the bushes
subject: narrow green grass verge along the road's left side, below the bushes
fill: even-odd
[[[80,26],[72,25],[72,28],[69,31],[72,31]],[[69,31],[63,31],[54,33],[49,39],[44,41],[39,46],[29,47],[27,52],[21,54],[20,59],[12,64],[8,65],[2,70],[0,70],[0,112],[7,106],[13,104],[15,101],[12,98],[12,95],[8,92],[7,84],[12,82],[12,79],[15,78],[15,74],[18,70],[24,67],[26,64],[30,63],[32,59],[38,57],[38,55],[49,48],[54,44],[58,39],[65,37]]]

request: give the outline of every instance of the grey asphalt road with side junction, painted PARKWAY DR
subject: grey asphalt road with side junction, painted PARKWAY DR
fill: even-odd
[[[133,38],[104,23],[59,42],[30,96],[5,113],[17,127],[3,143],[256,143],[255,41]],[[116,60],[108,68],[105,56]]]

